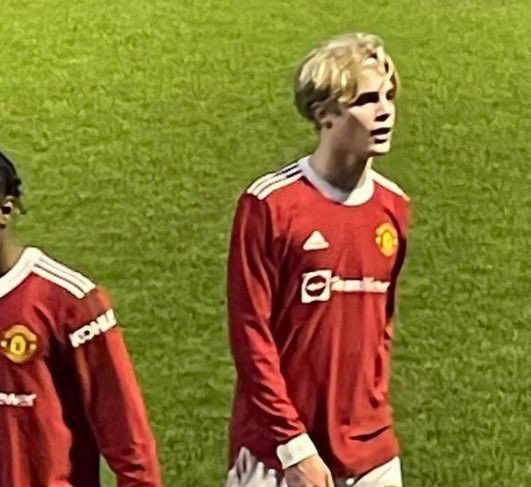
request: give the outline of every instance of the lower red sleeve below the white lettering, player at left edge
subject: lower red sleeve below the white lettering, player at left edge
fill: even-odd
[[[100,452],[119,487],[159,487],[156,442],[122,333],[98,338],[77,351],[75,363]]]

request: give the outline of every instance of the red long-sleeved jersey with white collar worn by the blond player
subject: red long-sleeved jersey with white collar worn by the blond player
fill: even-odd
[[[231,465],[246,448],[279,470],[315,446],[344,477],[398,454],[389,359],[409,204],[370,168],[362,181],[341,194],[306,157],[239,200],[228,265]]]

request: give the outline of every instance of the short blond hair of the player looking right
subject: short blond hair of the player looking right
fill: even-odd
[[[352,101],[357,96],[358,74],[376,69],[387,74],[398,91],[399,78],[383,40],[373,34],[355,32],[335,37],[312,50],[295,75],[295,106],[314,120],[314,104],[319,101]]]

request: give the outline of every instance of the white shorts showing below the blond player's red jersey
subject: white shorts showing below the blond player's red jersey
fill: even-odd
[[[393,458],[361,477],[334,479],[336,487],[402,487],[400,459]],[[225,487],[287,487],[282,472],[267,468],[247,448],[242,448]]]

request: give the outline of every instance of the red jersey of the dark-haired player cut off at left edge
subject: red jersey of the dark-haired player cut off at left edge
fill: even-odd
[[[161,486],[155,440],[107,295],[27,248],[0,277],[0,485]]]

